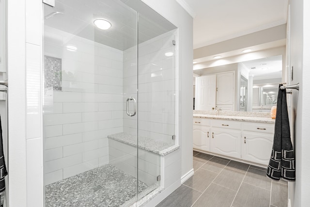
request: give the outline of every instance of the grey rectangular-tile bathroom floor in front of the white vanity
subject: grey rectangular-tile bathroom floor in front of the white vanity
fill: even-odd
[[[156,207],[287,207],[287,182],[266,169],[193,152],[195,174]]]

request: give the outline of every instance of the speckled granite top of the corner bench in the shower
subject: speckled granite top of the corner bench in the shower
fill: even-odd
[[[111,134],[108,135],[108,138],[137,147],[137,136],[129,133],[121,132],[117,134]],[[175,145],[174,143],[165,143],[141,136],[139,136],[138,147],[140,149],[144,149],[146,151],[150,151],[162,156],[168,155],[169,153],[180,148],[179,145]]]

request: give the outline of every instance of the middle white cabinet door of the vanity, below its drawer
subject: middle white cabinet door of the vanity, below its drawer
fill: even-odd
[[[210,135],[211,152],[241,158],[240,130],[213,127]]]

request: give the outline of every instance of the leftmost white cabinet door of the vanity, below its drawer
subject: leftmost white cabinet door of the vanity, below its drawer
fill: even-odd
[[[193,148],[210,152],[210,127],[193,126]]]

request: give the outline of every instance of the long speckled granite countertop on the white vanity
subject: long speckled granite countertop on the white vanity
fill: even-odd
[[[260,122],[260,123],[275,123],[275,119],[267,117],[251,117],[251,116],[229,116],[229,115],[212,115],[212,114],[193,114],[194,118],[209,118],[244,122]]]

